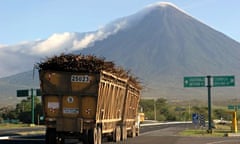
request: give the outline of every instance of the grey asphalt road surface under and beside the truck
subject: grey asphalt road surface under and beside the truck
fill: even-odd
[[[186,137],[179,132],[191,127],[189,124],[146,126],[141,134],[129,138],[121,144],[238,144],[240,137]],[[1,133],[2,131],[0,131]],[[11,136],[10,139],[0,140],[0,144],[44,144],[44,135]],[[67,144],[81,144],[76,140],[67,140]],[[103,142],[112,144],[113,142]]]

